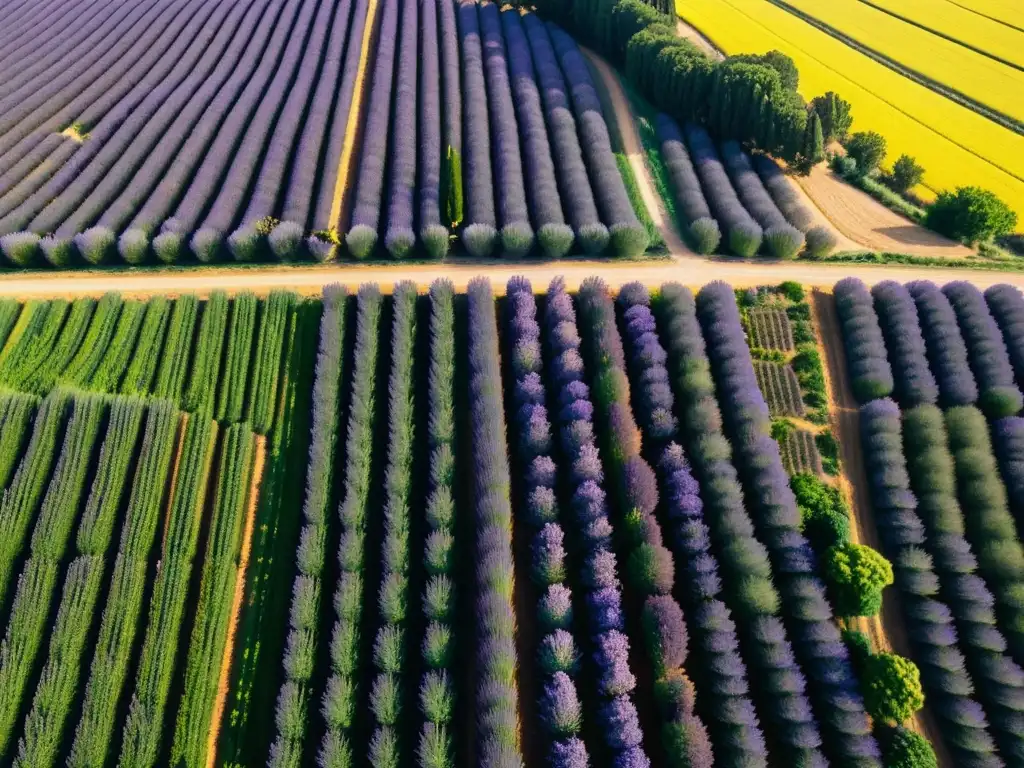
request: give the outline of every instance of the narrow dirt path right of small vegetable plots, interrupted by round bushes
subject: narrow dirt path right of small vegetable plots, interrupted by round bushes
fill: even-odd
[[[840,459],[843,463],[843,474],[840,475],[839,482],[850,499],[853,512],[850,520],[851,538],[857,544],[881,549],[860,446],[859,412],[846,372],[846,354],[839,317],[836,315],[836,301],[830,293],[814,291],[812,303],[814,322],[817,326],[818,350],[823,353],[822,358],[825,364],[829,418],[840,444]],[[911,657],[910,642],[906,627],[903,625],[899,596],[895,587],[886,590],[881,615],[871,618],[860,617],[857,621],[857,629],[871,638],[871,644],[877,651],[895,650],[900,655]],[[932,742],[942,768],[952,768],[954,765],[952,758],[946,750],[941,730],[927,702],[908,725],[919,733],[925,734]]]

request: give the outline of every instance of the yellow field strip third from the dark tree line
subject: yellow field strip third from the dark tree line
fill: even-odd
[[[1024,32],[979,15],[949,0],[865,0],[978,50],[1024,67]],[[1024,5],[1021,6],[1024,22]]]

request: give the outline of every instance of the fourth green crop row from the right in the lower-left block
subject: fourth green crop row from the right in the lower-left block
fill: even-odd
[[[145,408],[141,400],[118,400],[111,411],[96,476],[79,525],[78,557],[65,577],[46,666],[18,744],[14,764],[25,768],[56,763],[65,722],[78,692],[82,655],[105,570],[104,555],[128,482]]]

